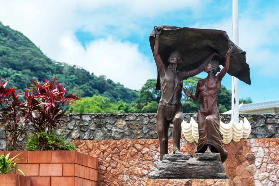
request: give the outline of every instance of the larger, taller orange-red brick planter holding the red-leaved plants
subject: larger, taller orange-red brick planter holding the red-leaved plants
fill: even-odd
[[[18,168],[31,176],[33,186],[97,185],[98,160],[76,151],[0,151],[11,152],[10,157],[22,152]],[[21,174],[16,171],[16,174]]]

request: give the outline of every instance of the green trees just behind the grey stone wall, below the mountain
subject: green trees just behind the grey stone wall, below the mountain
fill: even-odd
[[[188,87],[196,89],[199,77],[189,78]],[[187,83],[187,82],[186,82]],[[155,95],[153,95],[155,94]],[[184,93],[183,93],[184,94]],[[161,91],[156,90],[156,80],[149,79],[140,90],[139,98],[131,104],[124,100],[112,102],[107,97],[94,95],[92,97],[83,98],[74,106],[69,108],[69,112],[74,113],[156,113],[158,103],[160,101]],[[231,92],[223,85],[220,89],[218,98],[219,112],[223,113],[231,106]],[[183,100],[183,99],[182,99]],[[185,99],[184,99],[185,100]],[[200,107],[200,99],[193,101],[192,99],[182,102],[183,113],[197,113]]]

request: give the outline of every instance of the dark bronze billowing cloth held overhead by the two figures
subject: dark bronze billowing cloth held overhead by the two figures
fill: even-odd
[[[162,33],[160,34],[159,53],[166,66],[169,65],[167,59],[172,51],[179,51],[183,55],[183,60],[177,67],[181,71],[198,68],[213,51],[219,54],[215,55],[213,60],[219,61],[224,66],[226,60],[224,56],[229,47],[234,45],[228,74],[249,85],[251,84],[250,68],[246,63],[246,52],[235,45],[225,31],[168,25],[162,25],[160,28]],[[151,50],[154,51],[154,30],[149,36],[149,41]],[[157,90],[160,90],[159,73]]]

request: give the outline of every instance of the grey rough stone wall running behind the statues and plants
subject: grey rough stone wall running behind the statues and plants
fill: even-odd
[[[224,117],[223,117],[224,116]],[[184,114],[189,122],[197,114]],[[231,115],[221,114],[229,122]],[[252,127],[249,138],[279,138],[279,114],[240,114]],[[66,125],[55,132],[68,139],[158,139],[156,115],[154,113],[67,113]],[[172,124],[169,138],[172,139]],[[5,150],[4,128],[0,128],[0,150]],[[32,129],[27,135],[32,135]],[[19,149],[25,148],[25,137],[20,139]]]

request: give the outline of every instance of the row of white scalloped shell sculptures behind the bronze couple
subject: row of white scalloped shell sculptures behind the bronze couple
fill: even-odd
[[[185,139],[190,143],[194,141],[198,143],[199,130],[197,122],[195,122],[194,118],[191,117],[189,123],[183,121],[181,126]],[[232,140],[240,141],[241,138],[248,138],[251,132],[251,125],[246,117],[244,117],[244,122],[240,120],[239,123],[235,123],[233,120],[231,120],[229,123],[223,123],[220,121],[219,130],[223,135],[222,142],[224,144],[229,144]]]

